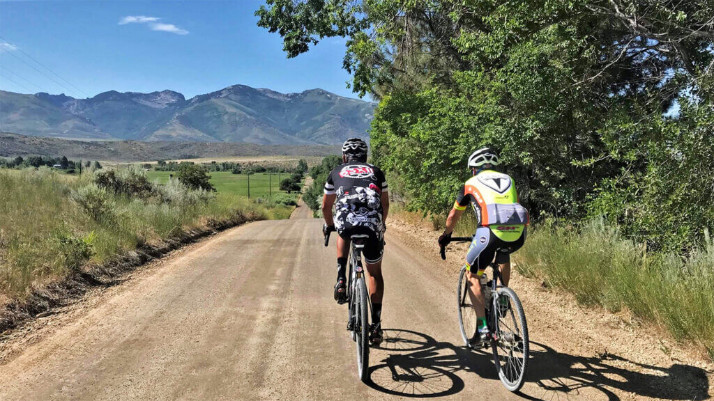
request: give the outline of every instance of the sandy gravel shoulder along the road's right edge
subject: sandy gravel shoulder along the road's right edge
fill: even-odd
[[[389,232],[423,250],[456,283],[468,244],[450,245],[443,261],[438,257],[438,233],[431,224],[407,222],[396,215],[391,217]],[[514,263],[518,263],[517,254]],[[663,330],[643,325],[626,313],[580,306],[573,295],[546,289],[515,269],[512,277],[511,288],[523,301],[528,317],[533,357],[545,357],[542,366],[560,372],[559,377],[536,380],[542,398],[566,389],[577,394],[578,388],[590,386],[611,387],[613,395],[623,398],[643,395],[643,390],[648,397],[665,399],[681,398],[684,394],[676,389],[693,390],[689,400],[705,400],[713,394],[714,364]],[[657,380],[646,380],[648,375]]]

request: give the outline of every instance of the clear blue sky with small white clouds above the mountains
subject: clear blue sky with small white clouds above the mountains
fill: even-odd
[[[0,89],[81,98],[112,89],[171,89],[190,98],[241,83],[280,92],[323,88],[356,97],[341,68],[344,39],[326,39],[307,54],[286,59],[281,37],[256,26],[253,13],[260,4],[0,1],[0,36],[9,41],[0,39]]]

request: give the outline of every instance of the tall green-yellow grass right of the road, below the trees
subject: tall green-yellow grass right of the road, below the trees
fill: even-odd
[[[579,228],[543,223],[518,252],[523,275],[565,288],[585,305],[602,305],[693,342],[714,359],[714,245],[683,260],[650,253],[616,228],[593,221]]]

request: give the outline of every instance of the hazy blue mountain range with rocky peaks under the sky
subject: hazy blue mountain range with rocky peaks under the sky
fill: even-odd
[[[0,91],[0,131],[85,141],[335,145],[366,137],[375,106],[319,88],[279,93],[245,85],[191,99],[168,90],[84,99]]]

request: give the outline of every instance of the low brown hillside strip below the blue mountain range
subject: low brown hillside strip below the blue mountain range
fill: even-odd
[[[101,161],[153,161],[159,159],[234,156],[327,156],[336,146],[258,145],[255,143],[68,141],[14,133],[0,133],[0,156],[67,156]]]

